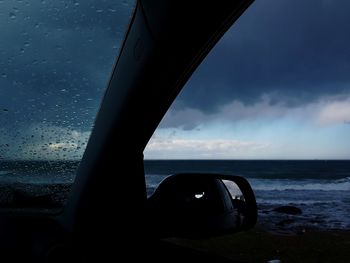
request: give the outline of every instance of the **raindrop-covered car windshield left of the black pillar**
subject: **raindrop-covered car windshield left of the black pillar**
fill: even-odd
[[[0,206],[65,199],[133,8],[0,0]]]

